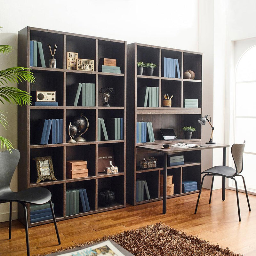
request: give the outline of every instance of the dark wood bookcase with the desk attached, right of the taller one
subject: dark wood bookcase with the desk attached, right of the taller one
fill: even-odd
[[[181,78],[164,77],[164,57],[179,60]],[[201,141],[202,115],[202,53],[189,52],[146,44],[127,45],[127,202],[132,205],[161,200],[160,174],[163,172],[163,154],[137,149],[137,145],[171,144],[178,142],[196,143]],[[137,61],[153,62],[157,65],[153,76],[137,75]],[[193,80],[184,79],[186,70],[193,70]],[[176,71],[177,74],[177,71]],[[177,75],[176,75],[177,77]],[[159,87],[159,107],[137,107],[137,88],[141,86]],[[172,107],[163,108],[164,94],[173,95]],[[184,99],[198,99],[198,108],[184,108]],[[136,122],[152,122],[155,142],[136,143]],[[191,140],[184,139],[183,126],[194,126],[196,132]],[[179,141],[165,141],[161,128],[173,128]],[[198,190],[182,193],[182,180],[196,180],[198,187],[201,179],[201,151],[183,152],[185,164],[167,167],[168,175],[173,175],[174,195],[167,198],[196,193]],[[157,168],[140,169],[143,157],[154,156]],[[146,179],[150,200],[136,202],[136,179]],[[129,188],[129,189],[128,189]],[[145,194],[145,193],[144,193]],[[145,196],[144,196],[145,199]]]

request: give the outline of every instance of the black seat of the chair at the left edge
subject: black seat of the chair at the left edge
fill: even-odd
[[[51,192],[46,188],[28,188],[19,192],[11,189],[1,191],[0,200],[24,202],[29,204],[45,204],[50,201]]]

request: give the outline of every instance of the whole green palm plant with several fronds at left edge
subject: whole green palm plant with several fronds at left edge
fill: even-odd
[[[8,54],[12,52],[12,49],[10,45],[0,45],[0,53]],[[8,83],[19,83],[22,81],[28,81],[29,83],[36,81],[35,76],[29,71],[29,68],[13,67],[0,70],[0,104],[6,102],[20,106],[30,104],[31,100],[28,92],[7,86]],[[0,109],[0,124],[3,125],[4,129],[7,129],[8,122],[6,121],[5,114],[6,112]],[[0,136],[0,141],[1,149],[6,148],[11,153],[13,148],[12,143],[3,136]]]

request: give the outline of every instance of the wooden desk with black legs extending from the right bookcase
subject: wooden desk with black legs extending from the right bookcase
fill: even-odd
[[[168,143],[168,141],[166,141]],[[199,142],[198,145],[205,145],[205,143]],[[205,149],[212,149],[212,148],[223,148],[222,153],[222,165],[226,165],[226,148],[229,147],[228,144],[208,144],[205,148],[176,148],[170,147],[169,149],[161,148],[162,144],[159,145],[147,145],[147,146],[137,146],[137,148],[150,150],[155,152],[161,152],[164,154],[164,179],[163,179],[163,214],[166,213],[166,180],[167,180],[167,156],[175,153],[181,153],[185,151],[194,151],[194,150],[205,150]],[[222,177],[222,200],[225,200],[225,177]]]

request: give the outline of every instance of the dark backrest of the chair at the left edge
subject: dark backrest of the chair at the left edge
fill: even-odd
[[[19,163],[20,152],[18,149],[0,152],[0,193],[10,190],[13,173]]]

